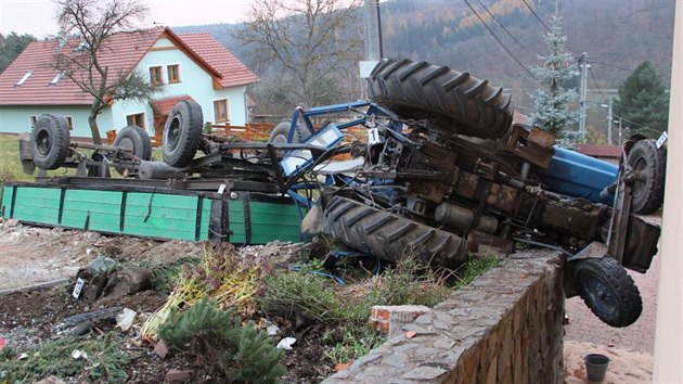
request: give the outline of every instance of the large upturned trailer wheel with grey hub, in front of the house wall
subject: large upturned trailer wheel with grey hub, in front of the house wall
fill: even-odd
[[[182,100],[173,106],[164,127],[162,153],[166,164],[177,168],[190,164],[199,146],[203,124],[202,107],[195,101]]]

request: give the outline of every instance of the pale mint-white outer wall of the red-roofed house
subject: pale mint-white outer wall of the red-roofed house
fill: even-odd
[[[246,87],[233,87],[215,90],[212,77],[203,67],[175,46],[168,39],[159,39],[154,48],[138,63],[136,71],[140,71],[145,77],[150,77],[150,67],[162,66],[164,76],[164,91],[155,95],[155,99],[166,99],[179,95],[190,95],[201,106],[204,121],[214,123],[214,101],[228,99],[230,125],[244,126],[247,123],[247,108],[245,92]],[[168,65],[179,65],[180,82],[168,84]],[[154,135],[153,111],[149,103],[134,101],[118,101],[112,106],[113,126],[116,129],[126,127],[126,116],[144,113],[145,126],[150,135]]]

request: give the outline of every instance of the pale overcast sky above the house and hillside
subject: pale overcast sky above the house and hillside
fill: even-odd
[[[141,0],[150,8],[147,26],[236,23],[247,17],[250,0]],[[57,33],[52,0],[0,0],[0,34],[31,34],[43,38]]]

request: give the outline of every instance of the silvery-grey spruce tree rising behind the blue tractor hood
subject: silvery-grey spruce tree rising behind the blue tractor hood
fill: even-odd
[[[530,94],[536,112],[529,117],[529,124],[547,130],[562,143],[567,139],[568,128],[578,120],[579,113],[570,110],[577,92],[563,87],[571,80],[577,68],[571,54],[565,51],[567,37],[562,34],[560,17],[553,16],[551,31],[543,41],[547,55],[539,56],[543,60],[542,66],[531,68],[540,86]]]

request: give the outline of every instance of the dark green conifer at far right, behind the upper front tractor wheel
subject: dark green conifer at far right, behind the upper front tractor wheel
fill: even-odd
[[[669,125],[669,94],[649,61],[641,63],[619,87],[615,115],[623,117],[630,133],[658,138]]]

